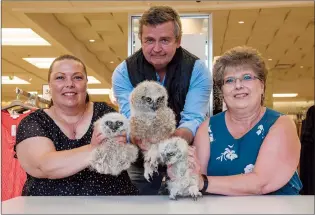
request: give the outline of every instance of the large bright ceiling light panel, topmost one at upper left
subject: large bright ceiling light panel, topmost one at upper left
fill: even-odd
[[[30,28],[2,28],[4,46],[51,46]]]

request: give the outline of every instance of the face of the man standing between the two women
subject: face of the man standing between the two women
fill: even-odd
[[[156,70],[166,68],[173,59],[180,40],[175,37],[174,22],[142,27],[141,46],[144,57]]]

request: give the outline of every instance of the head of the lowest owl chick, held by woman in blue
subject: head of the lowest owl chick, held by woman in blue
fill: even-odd
[[[187,155],[188,144],[181,138],[171,138],[159,144],[162,162],[167,165],[176,163]]]

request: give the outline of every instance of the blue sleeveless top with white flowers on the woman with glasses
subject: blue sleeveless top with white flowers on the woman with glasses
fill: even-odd
[[[261,120],[239,139],[234,139],[228,131],[225,112],[212,116],[209,125],[211,155],[207,174],[209,176],[228,176],[251,172],[261,144],[270,127],[281,115],[281,113],[266,108]],[[301,188],[302,183],[295,172],[286,185],[269,195],[297,195]]]

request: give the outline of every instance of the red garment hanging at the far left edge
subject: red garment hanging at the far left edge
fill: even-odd
[[[20,166],[18,159],[14,158],[14,145],[17,126],[28,113],[19,114],[16,119],[6,110],[1,111],[1,200],[5,201],[21,196],[26,173]]]

